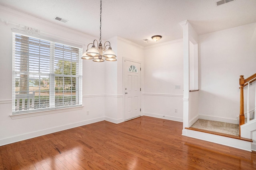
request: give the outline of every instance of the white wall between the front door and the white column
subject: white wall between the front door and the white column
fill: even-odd
[[[175,121],[183,120],[182,50],[182,39],[145,48],[142,68],[144,115]],[[175,85],[180,85],[180,89],[175,89]]]

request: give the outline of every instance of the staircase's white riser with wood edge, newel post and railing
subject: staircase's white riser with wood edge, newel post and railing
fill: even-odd
[[[193,127],[186,128],[186,136],[201,139],[204,141],[210,141],[235,147],[238,149],[256,151],[256,143],[252,140],[252,132],[256,133],[256,119],[254,114],[256,112],[256,73],[248,78],[244,79],[244,76],[240,76],[240,115],[239,115],[239,136],[228,135],[225,133],[219,133],[214,131],[202,130]],[[255,90],[253,87],[255,86]],[[247,109],[244,111],[244,90],[247,90]],[[255,104],[252,104],[254,102]],[[250,107],[251,106],[253,107]],[[204,134],[202,134],[204,133]]]

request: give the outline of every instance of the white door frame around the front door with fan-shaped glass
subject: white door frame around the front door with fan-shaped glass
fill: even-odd
[[[134,63],[139,63],[140,64],[140,68],[141,68],[141,66],[142,66],[142,62],[141,61],[138,61],[138,60],[134,60],[134,59],[129,59],[129,58],[125,58],[125,57],[123,57],[123,122],[125,121],[125,80],[124,80],[124,78],[125,78],[125,71],[126,71],[126,69],[125,69],[125,61],[131,61],[131,62],[134,62]],[[141,72],[141,70],[140,70],[140,88],[141,88],[141,84],[142,84],[142,82],[141,82],[141,80],[142,80],[142,74],[141,74],[142,72]],[[141,101],[142,101],[142,96],[141,96],[141,92],[142,91],[140,91],[140,108],[141,108]],[[142,116],[142,111],[140,111],[140,115]],[[130,120],[130,119],[129,119]]]

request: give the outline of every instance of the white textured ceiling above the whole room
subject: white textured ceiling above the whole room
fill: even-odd
[[[256,0],[102,0],[102,39],[116,35],[142,46],[182,38],[188,20],[198,35],[256,22]],[[0,0],[0,4],[64,27],[100,37],[100,0]],[[68,20],[54,20],[58,16]],[[40,28],[39,28],[40,29]],[[146,43],[143,39],[150,39]]]

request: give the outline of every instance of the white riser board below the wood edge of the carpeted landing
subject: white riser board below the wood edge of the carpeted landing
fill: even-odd
[[[233,139],[233,138],[229,138],[229,137],[213,135],[210,133],[193,131],[193,130],[189,130],[189,129],[183,129],[182,135],[252,152],[251,142],[243,141],[240,139]]]

